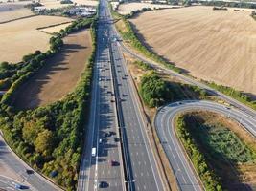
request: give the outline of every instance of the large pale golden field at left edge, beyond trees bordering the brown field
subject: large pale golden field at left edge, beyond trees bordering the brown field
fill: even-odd
[[[23,55],[49,49],[50,34],[36,28],[72,21],[57,16],[34,16],[0,25],[0,62],[19,62]]]

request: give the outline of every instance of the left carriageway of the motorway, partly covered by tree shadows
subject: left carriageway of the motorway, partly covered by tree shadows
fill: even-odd
[[[105,10],[100,5],[98,24],[97,55],[94,67],[93,92],[89,125],[86,127],[86,142],[81,161],[78,190],[98,190],[105,182],[104,190],[125,189],[122,154],[115,108],[115,96],[108,47],[108,30],[105,27]],[[92,156],[96,148],[96,156]],[[111,166],[111,160],[118,165]]]

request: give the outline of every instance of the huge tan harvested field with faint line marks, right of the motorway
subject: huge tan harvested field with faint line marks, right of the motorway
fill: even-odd
[[[131,19],[155,53],[192,75],[256,94],[256,21],[248,11],[190,7]]]

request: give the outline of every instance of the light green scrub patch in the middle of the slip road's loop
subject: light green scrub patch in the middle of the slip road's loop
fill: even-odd
[[[249,162],[256,159],[244,142],[229,129],[203,123],[195,122],[193,135],[208,150],[213,159],[221,159],[232,162]]]

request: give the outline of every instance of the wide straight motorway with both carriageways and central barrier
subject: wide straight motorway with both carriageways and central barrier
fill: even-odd
[[[78,190],[98,190],[100,181],[107,182],[105,190],[165,190],[105,0],[100,1],[99,18],[91,116]],[[103,132],[109,131],[120,135],[120,142],[107,137],[107,143],[99,143]],[[92,148],[97,148],[96,158],[91,157]],[[110,159],[120,166],[110,166]]]

